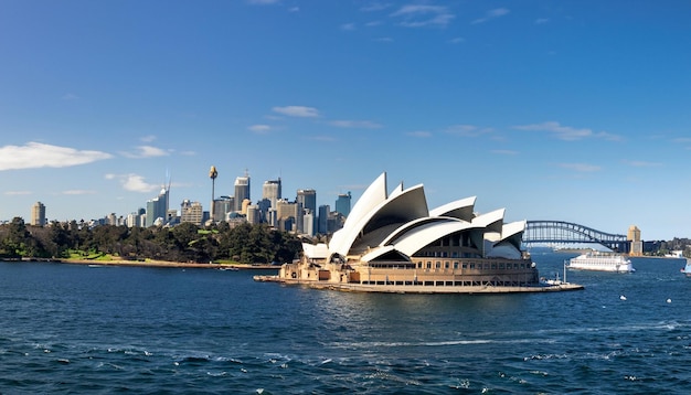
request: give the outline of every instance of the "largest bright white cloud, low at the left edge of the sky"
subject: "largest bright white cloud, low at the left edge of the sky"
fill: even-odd
[[[0,171],[38,168],[67,168],[110,159],[110,153],[28,142],[0,147]]]

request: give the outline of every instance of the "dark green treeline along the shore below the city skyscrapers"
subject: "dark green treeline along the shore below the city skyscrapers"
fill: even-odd
[[[113,255],[126,260],[270,264],[291,261],[300,250],[297,236],[247,223],[232,228],[225,222],[206,228],[190,223],[170,228],[89,228],[73,221],[42,227],[14,217],[0,225],[0,259],[70,258],[76,253],[85,258]]]

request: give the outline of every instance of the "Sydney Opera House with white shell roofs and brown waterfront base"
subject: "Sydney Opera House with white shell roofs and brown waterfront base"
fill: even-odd
[[[328,244],[304,244],[299,260],[257,279],[395,292],[554,288],[541,287],[535,264],[521,250],[525,221],[504,223],[503,209],[478,214],[475,201],[429,210],[422,184],[389,193],[384,172]]]

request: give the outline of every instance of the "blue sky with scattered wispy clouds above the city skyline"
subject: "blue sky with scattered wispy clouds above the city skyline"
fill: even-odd
[[[0,220],[127,215],[236,177],[691,237],[687,1],[0,3]]]

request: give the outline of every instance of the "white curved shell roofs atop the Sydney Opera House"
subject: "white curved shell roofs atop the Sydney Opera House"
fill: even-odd
[[[483,256],[520,256],[525,222],[504,224],[504,209],[477,215],[475,202],[475,196],[466,198],[429,211],[422,184],[405,190],[400,184],[387,195],[384,172],[358,200],[328,250],[362,261],[391,254],[410,257],[443,237],[470,232]]]

